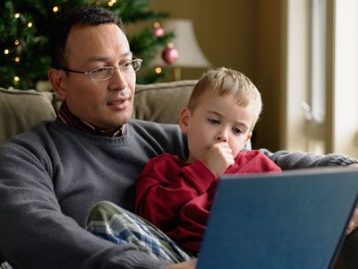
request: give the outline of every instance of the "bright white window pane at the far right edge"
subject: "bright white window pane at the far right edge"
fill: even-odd
[[[358,157],[358,1],[334,1],[332,21],[326,148]]]

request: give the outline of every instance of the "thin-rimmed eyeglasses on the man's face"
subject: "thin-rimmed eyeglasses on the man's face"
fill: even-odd
[[[90,74],[90,79],[92,81],[106,81],[109,80],[113,74],[115,74],[115,68],[119,68],[119,70],[125,74],[130,74],[133,72],[137,72],[141,69],[141,59],[133,59],[132,61],[125,62],[123,65],[119,66],[104,66],[98,67],[96,69],[90,70],[88,72],[76,71],[68,68],[61,68],[66,72],[79,73],[79,74]]]

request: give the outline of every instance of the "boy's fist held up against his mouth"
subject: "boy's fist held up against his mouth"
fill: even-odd
[[[202,160],[213,174],[218,178],[224,171],[234,164],[234,156],[229,144],[226,142],[214,143]]]

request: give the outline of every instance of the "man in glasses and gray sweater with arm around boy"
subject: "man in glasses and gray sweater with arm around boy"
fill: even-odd
[[[135,59],[122,22],[98,6],[62,13],[51,35],[49,80],[64,100],[0,149],[0,251],[14,268],[194,268],[165,265],[83,229],[100,200],[130,211],[135,179],[164,152],[185,158],[177,126],[130,120]],[[355,161],[339,155],[266,152],[283,169]]]

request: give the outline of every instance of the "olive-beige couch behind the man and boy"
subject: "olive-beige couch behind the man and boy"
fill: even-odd
[[[132,117],[161,123],[177,123],[179,112],[187,104],[195,82],[192,80],[138,85]],[[40,120],[54,119],[55,109],[59,107],[60,101],[53,92],[0,88],[0,143],[26,131]],[[358,230],[345,240],[335,269],[358,268],[356,254]]]

